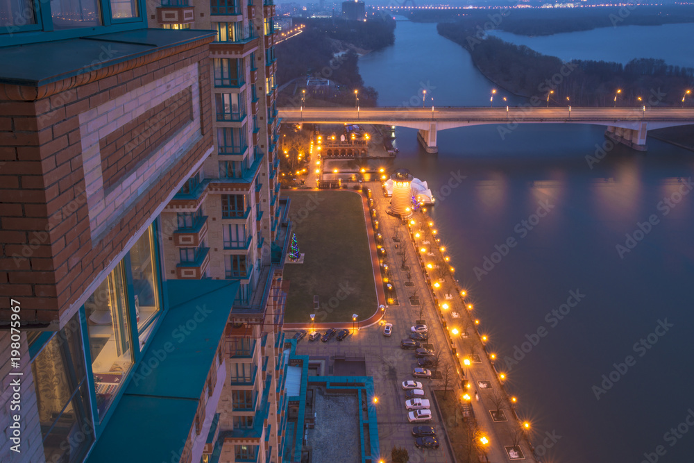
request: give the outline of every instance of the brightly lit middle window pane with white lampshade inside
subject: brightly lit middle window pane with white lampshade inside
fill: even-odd
[[[120,262],[85,302],[99,419],[133,365],[126,301],[124,265]]]

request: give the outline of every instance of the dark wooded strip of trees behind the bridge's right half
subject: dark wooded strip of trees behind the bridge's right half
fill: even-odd
[[[694,87],[694,69],[668,65],[664,60],[638,58],[626,65],[562,62],[525,45],[475,35],[475,30],[460,23],[439,23],[437,30],[467,49],[477,69],[500,87],[543,101],[549,96],[550,105],[610,106],[617,96],[618,106],[673,106],[682,103],[684,92]]]

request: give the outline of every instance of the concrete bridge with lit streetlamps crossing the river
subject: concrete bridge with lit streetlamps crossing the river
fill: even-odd
[[[282,122],[309,124],[384,124],[417,128],[417,139],[437,153],[437,132],[448,128],[498,124],[499,133],[516,124],[593,124],[607,126],[614,142],[646,150],[646,133],[656,128],[694,124],[694,108],[279,108]]]

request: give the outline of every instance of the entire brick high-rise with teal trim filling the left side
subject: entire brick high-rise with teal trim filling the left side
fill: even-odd
[[[2,462],[282,461],[274,6],[220,1],[0,6]]]

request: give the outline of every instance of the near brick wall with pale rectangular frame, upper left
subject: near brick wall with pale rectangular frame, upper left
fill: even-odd
[[[14,296],[22,297],[24,323],[62,326],[90,284],[103,279],[137,230],[155,219],[207,155],[210,40],[107,63],[42,87],[0,85],[0,319],[9,319]],[[122,173],[110,174],[108,163],[102,171],[101,140],[120,140],[112,133],[182,92],[190,94],[192,120],[181,121],[176,133],[148,134],[138,146],[153,148],[121,163]],[[85,151],[93,146],[98,162]],[[173,147],[178,151],[171,156]],[[104,172],[110,175],[105,188]]]

